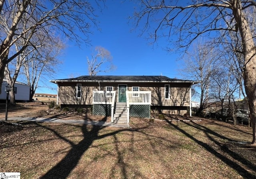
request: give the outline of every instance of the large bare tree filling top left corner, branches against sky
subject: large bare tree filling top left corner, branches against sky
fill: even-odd
[[[94,3],[81,0],[0,0],[0,84],[6,64],[28,45],[33,45],[30,39],[38,30],[49,37],[58,32],[77,43],[88,42],[91,24],[97,27],[94,6],[102,5],[104,0],[95,0]],[[78,31],[84,36],[81,37]],[[18,39],[24,39],[26,43],[20,51],[11,53]]]

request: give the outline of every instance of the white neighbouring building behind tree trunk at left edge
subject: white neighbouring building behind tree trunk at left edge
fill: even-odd
[[[2,83],[2,93],[0,94],[0,100],[6,100],[6,90],[5,87],[8,85],[6,79],[3,79]],[[30,97],[30,85],[20,83],[16,81],[14,83],[14,95],[16,101],[29,101]],[[10,99],[10,95],[9,95]]]

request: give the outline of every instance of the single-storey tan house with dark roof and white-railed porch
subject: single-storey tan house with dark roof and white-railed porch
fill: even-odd
[[[150,110],[191,114],[191,85],[199,83],[165,76],[80,76],[50,82],[58,85],[61,107],[92,106],[93,114],[111,115],[112,122],[149,118]]]

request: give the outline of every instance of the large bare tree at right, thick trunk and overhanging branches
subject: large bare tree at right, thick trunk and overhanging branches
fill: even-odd
[[[250,27],[252,22],[245,13],[254,12],[253,7],[256,6],[256,2],[192,0],[187,2],[186,6],[180,1],[141,0],[141,2],[141,8],[134,15],[136,26],[138,27],[140,22],[146,22],[146,25],[143,24],[142,33],[152,30],[150,37],[153,37],[154,41],[160,37],[175,36],[178,39],[174,45],[187,50],[199,36],[212,37],[214,44],[218,46],[223,43],[223,37],[229,36],[230,31],[236,32],[244,55],[244,85],[251,112],[252,144],[256,145],[256,48],[254,29]]]

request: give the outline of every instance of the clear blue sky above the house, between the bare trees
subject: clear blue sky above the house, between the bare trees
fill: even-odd
[[[116,70],[112,72],[97,75],[163,75],[182,78],[178,75],[177,59],[180,55],[163,50],[168,43],[166,39],[161,39],[158,45],[153,46],[144,37],[138,36],[138,30],[131,31],[133,24],[128,22],[128,17],[134,12],[132,2],[109,0],[106,6],[97,18],[101,31],[91,29],[94,31],[90,35],[91,45],[82,44],[78,47],[67,42],[64,54],[60,57],[63,64],[49,80],[88,75],[86,56],[91,56],[95,46],[102,46],[110,51],[112,62],[116,66]],[[54,90],[38,88],[36,93],[57,94],[57,85],[50,82],[49,85]]]

